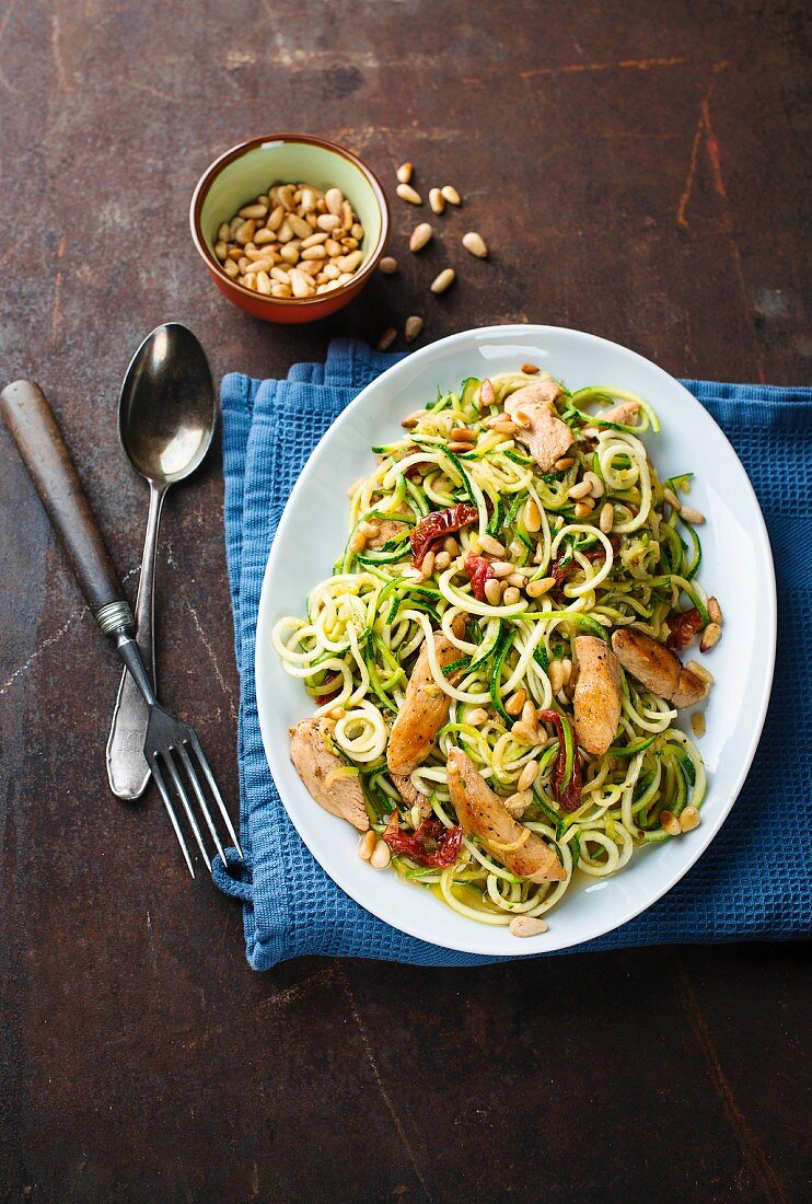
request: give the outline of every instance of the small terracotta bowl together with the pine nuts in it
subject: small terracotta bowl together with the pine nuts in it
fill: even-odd
[[[201,176],[189,222],[220,291],[280,323],[326,318],[357,296],[390,226],[374,172],[309,134],[271,134],[226,150]]]

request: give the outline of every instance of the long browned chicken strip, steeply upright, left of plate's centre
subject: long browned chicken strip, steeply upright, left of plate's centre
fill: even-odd
[[[466,630],[466,616],[455,616],[452,630],[462,638]],[[460,660],[460,651],[441,631],[434,632],[434,649],[440,668]],[[423,645],[417,662],[411,671],[405,698],[392,725],[386,749],[386,763],[390,773],[399,778],[408,777],[413,769],[426,760],[434,748],[437,733],[449,718],[451,700],[440,690],[432,677],[428,663],[428,650]]]

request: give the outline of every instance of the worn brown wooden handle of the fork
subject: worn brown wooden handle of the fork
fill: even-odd
[[[46,395],[34,380],[14,380],[0,393],[0,412],[99,626],[106,636],[128,630],[130,604]]]

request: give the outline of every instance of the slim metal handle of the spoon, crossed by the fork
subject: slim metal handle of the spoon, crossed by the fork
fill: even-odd
[[[149,485],[149,515],[144,551],[141,560],[136,598],[136,638],[147,674],[155,687],[155,565],[158,531],[167,485]],[[140,798],[149,781],[149,766],[143,755],[148,721],[141,690],[125,669],[118,687],[113,719],[107,739],[107,780],[118,798]]]

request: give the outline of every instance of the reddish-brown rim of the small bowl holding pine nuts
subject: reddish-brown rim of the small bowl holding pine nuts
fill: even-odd
[[[233,281],[230,276],[227,276],[226,272],[223,271],[219,260],[209,252],[206,244],[206,240],[203,238],[201,230],[200,216],[203,208],[203,201],[206,200],[212,183],[230,163],[233,163],[235,159],[242,158],[242,155],[253,150],[255,147],[263,146],[266,142],[298,142],[306,146],[321,147],[322,150],[328,150],[332,154],[340,155],[343,159],[351,163],[354,167],[357,167],[361,171],[372,189],[375,201],[378,202],[378,209],[380,213],[380,235],[378,236],[378,242],[372,254],[361,270],[355,273],[351,281],[348,281],[346,284],[342,284],[337,289],[331,289],[330,293],[321,293],[312,297],[268,297],[261,293],[255,293],[253,289],[247,289],[244,284],[238,284],[237,281]],[[304,308],[307,306],[324,305],[325,301],[336,301],[339,297],[354,293],[360,284],[366,283],[369,276],[374,272],[384,250],[386,249],[390,229],[390,211],[386,194],[384,193],[384,185],[372,167],[366,164],[363,159],[358,158],[358,155],[352,154],[351,150],[339,146],[337,142],[331,142],[328,138],[318,137],[314,134],[263,134],[255,138],[248,138],[245,142],[238,142],[229,150],[225,150],[221,155],[218,155],[218,158],[209,164],[195,185],[195,191],[192,193],[191,203],[189,206],[189,225],[197,253],[206,266],[217,273],[218,279],[225,281],[225,283],[238,294],[250,297],[253,301],[268,305],[271,308],[275,308],[277,306]]]

